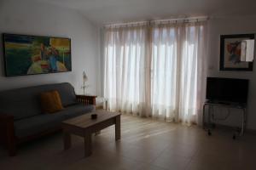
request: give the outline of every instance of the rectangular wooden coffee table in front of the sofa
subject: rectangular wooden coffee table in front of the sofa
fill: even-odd
[[[90,118],[93,113],[97,114],[97,118],[94,120]],[[84,156],[90,156],[92,153],[91,134],[111,125],[115,125],[115,139],[119,140],[121,137],[120,114],[117,112],[94,111],[62,122],[64,150],[71,147],[71,134],[75,134],[84,138]]]

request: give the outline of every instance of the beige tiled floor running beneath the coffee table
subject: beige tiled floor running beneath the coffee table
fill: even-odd
[[[0,150],[0,169],[75,170],[250,170],[256,169],[256,136],[233,141],[230,131],[211,137],[200,127],[184,127],[135,116],[122,116],[122,139],[114,128],[93,137],[93,154],[84,158],[83,139],[73,136],[64,151],[61,133],[22,146],[15,157]]]

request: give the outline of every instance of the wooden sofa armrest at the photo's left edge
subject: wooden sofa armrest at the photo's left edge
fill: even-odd
[[[0,141],[7,145],[9,155],[15,156],[15,120],[14,116],[0,114]]]

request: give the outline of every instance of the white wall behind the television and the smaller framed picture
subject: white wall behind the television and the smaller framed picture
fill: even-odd
[[[208,76],[246,78],[250,80],[247,103],[247,128],[256,130],[256,61],[253,71],[219,71],[219,41],[220,35],[256,33],[256,16],[218,17],[209,21],[209,54]],[[218,110],[225,114],[226,110]],[[228,124],[235,125],[239,120],[239,112],[232,110]]]

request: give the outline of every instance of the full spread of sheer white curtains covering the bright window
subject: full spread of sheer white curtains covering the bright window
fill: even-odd
[[[205,97],[206,21],[108,28],[104,97],[110,111],[190,125]]]

